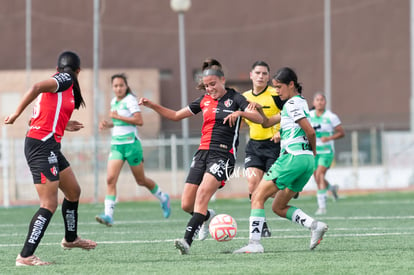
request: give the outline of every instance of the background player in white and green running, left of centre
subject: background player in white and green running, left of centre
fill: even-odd
[[[107,226],[114,223],[113,214],[116,202],[116,184],[122,166],[128,162],[131,172],[139,186],[146,187],[161,203],[164,218],[171,214],[170,197],[150,178],[145,176],[143,150],[138,137],[137,126],[144,124],[136,96],[128,86],[124,74],[115,74],[111,78],[115,97],[111,101],[110,121],[103,120],[99,129],[112,128],[111,152],[107,166],[107,188],[105,211],[97,215],[96,220]]]

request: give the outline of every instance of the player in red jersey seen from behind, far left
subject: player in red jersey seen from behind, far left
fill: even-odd
[[[57,73],[34,84],[23,96],[16,111],[6,117],[5,124],[13,124],[35,99],[36,104],[26,134],[24,153],[32,172],[40,199],[40,208],[33,216],[23,249],[16,258],[16,266],[49,265],[34,255],[58,205],[58,189],[65,198],[62,216],[65,249],[93,249],[96,242],[81,239],[77,234],[78,204],[81,188],[69,162],[60,151],[64,131],[78,131],[83,125],[69,120],[74,109],[85,103],[78,83],[80,59],[73,52],[63,52],[57,62]]]

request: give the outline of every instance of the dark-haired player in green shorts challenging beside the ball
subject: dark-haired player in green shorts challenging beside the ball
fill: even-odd
[[[287,218],[311,230],[310,249],[322,240],[328,226],[314,220],[301,209],[288,205],[289,201],[302,191],[312,176],[316,155],[316,135],[309,122],[309,109],[301,96],[302,86],[296,73],[290,68],[281,68],[272,79],[280,98],[287,100],[281,114],[264,119],[263,126],[269,127],[280,122],[281,155],[263,177],[252,196],[252,209],[249,219],[249,244],[234,253],[263,253],[260,244],[264,203],[276,193],[272,210],[280,217]],[[259,110],[261,106],[257,106]]]

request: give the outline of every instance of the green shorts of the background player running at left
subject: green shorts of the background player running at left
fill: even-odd
[[[120,159],[128,161],[130,166],[140,165],[143,158],[142,145],[138,139],[128,144],[112,144],[108,160]]]

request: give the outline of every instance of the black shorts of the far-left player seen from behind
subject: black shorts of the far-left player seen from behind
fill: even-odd
[[[70,166],[60,151],[60,143],[52,137],[46,141],[26,137],[24,154],[34,183],[59,180],[59,171]]]

